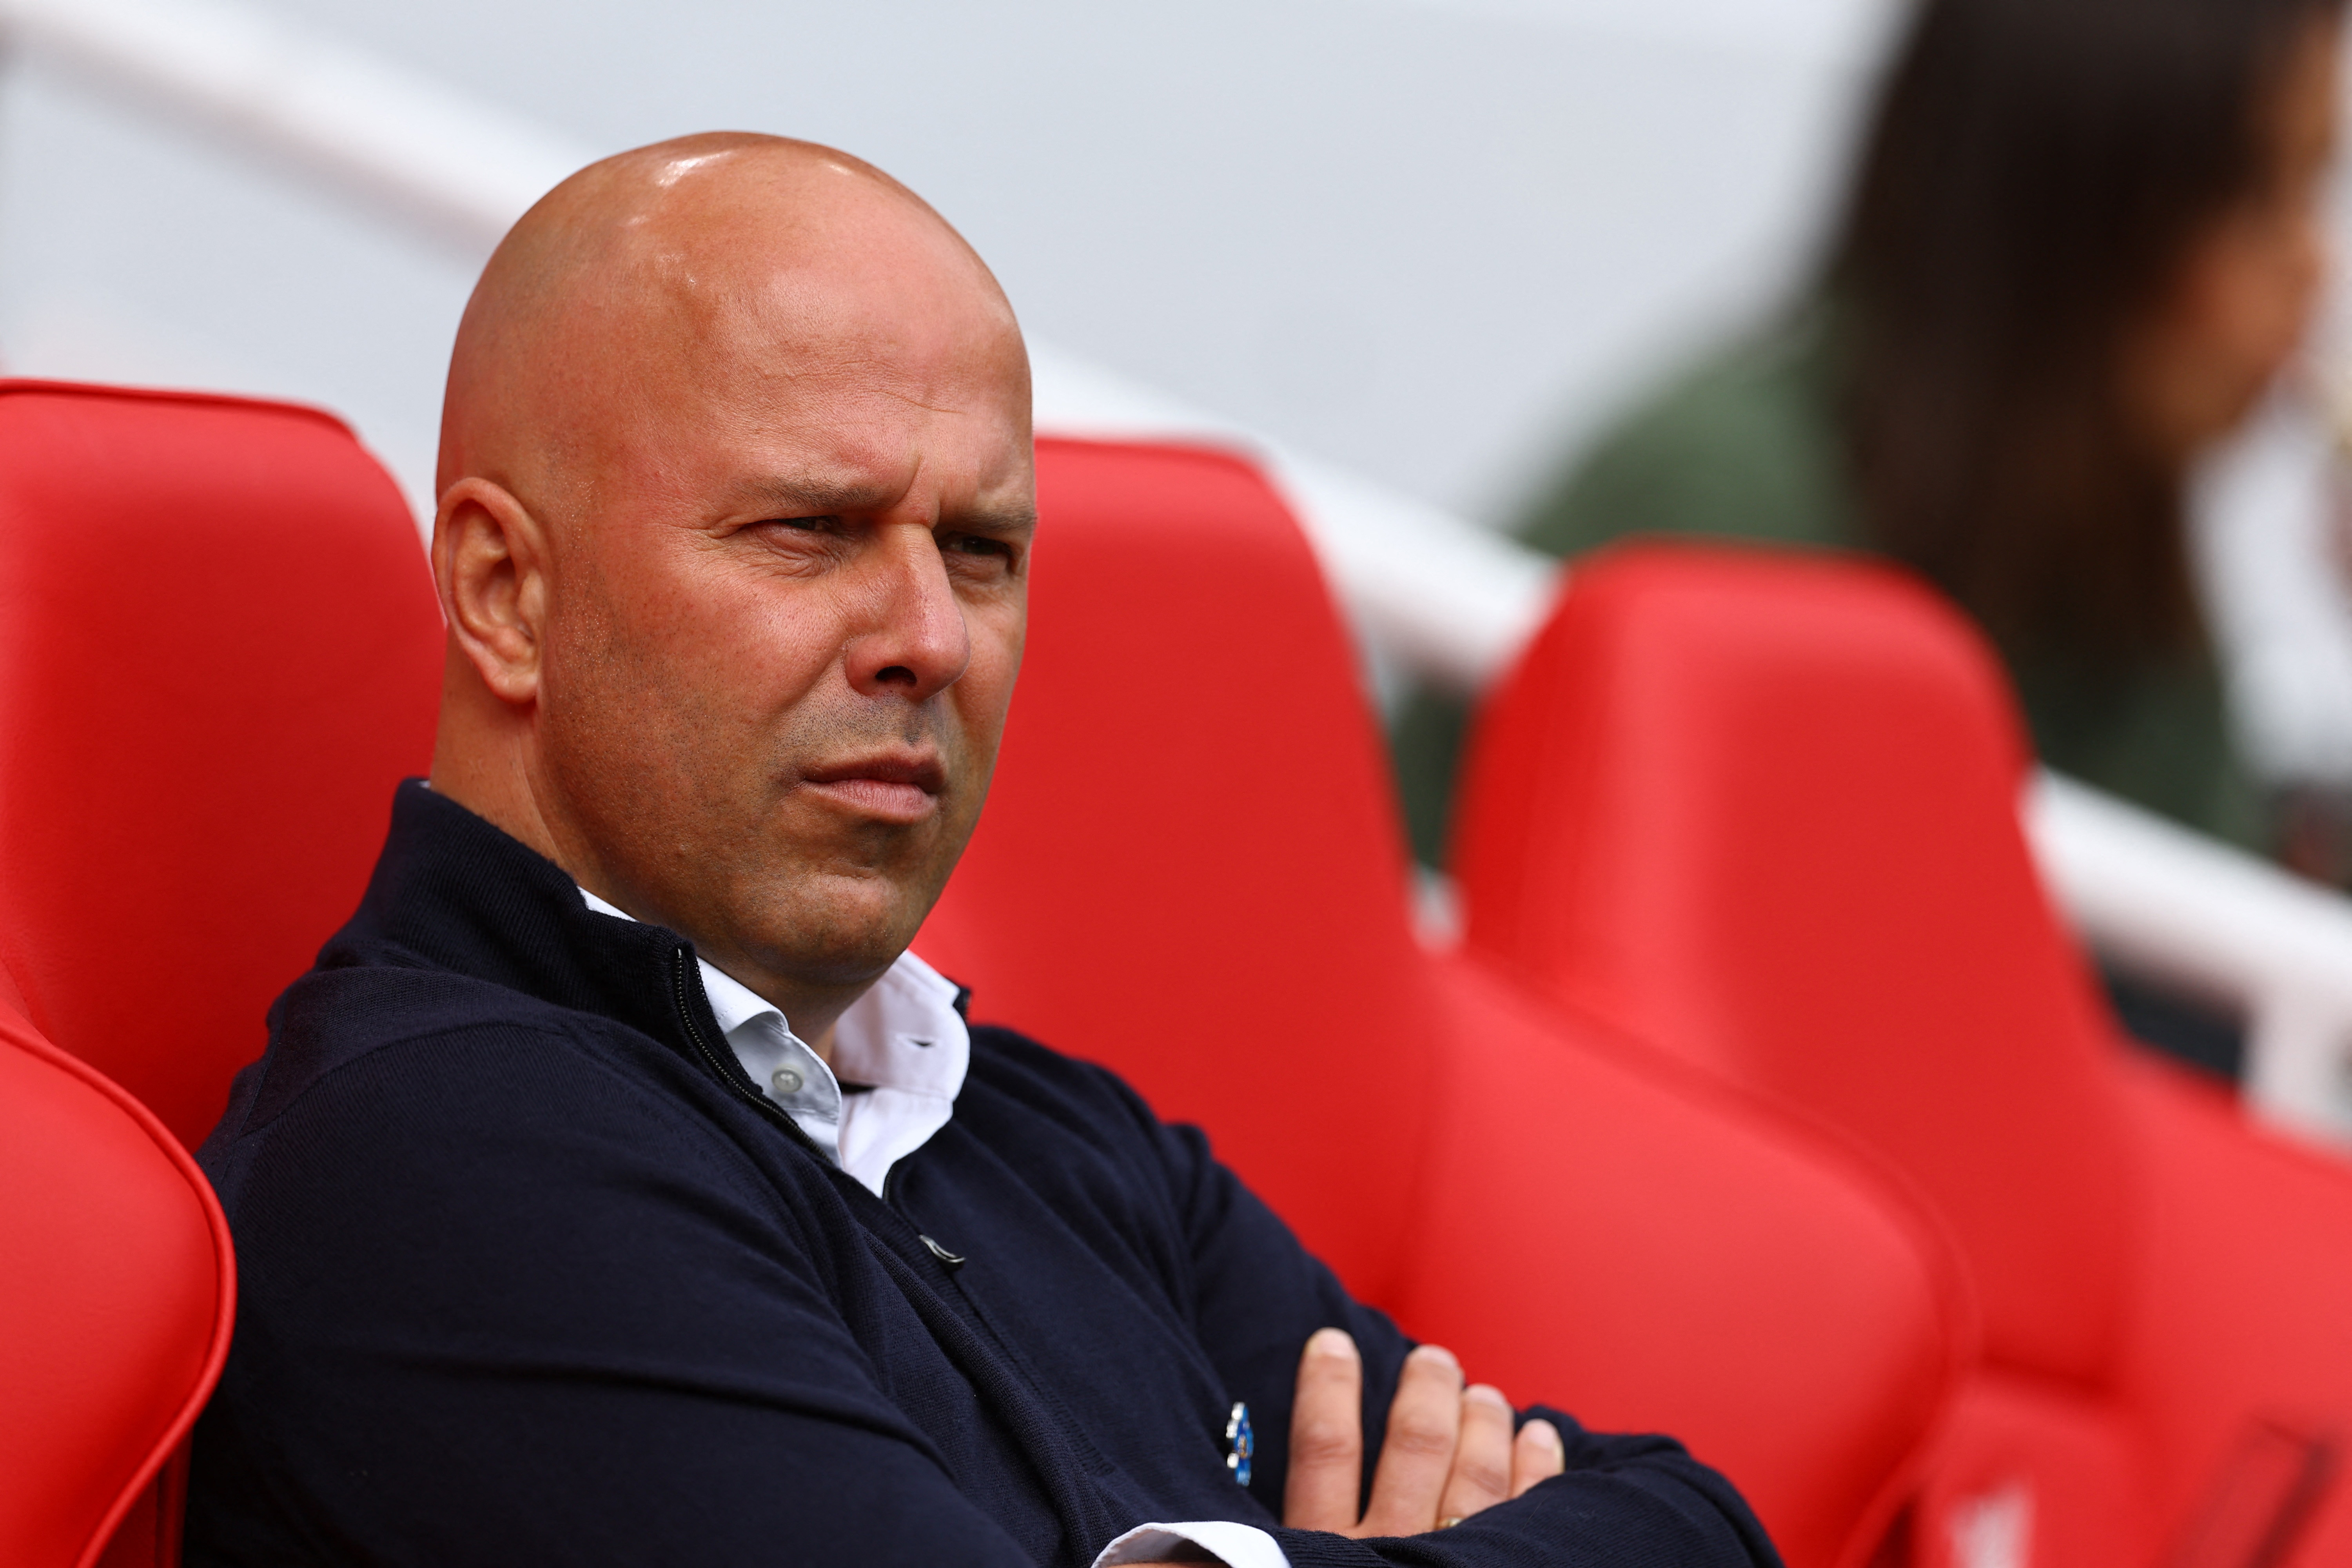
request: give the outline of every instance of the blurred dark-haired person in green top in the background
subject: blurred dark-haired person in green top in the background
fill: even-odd
[[[2042,759],[2270,849],[2230,743],[2185,494],[2324,280],[2343,0],[1926,0],[1813,287],[1668,386],[1529,510],[1877,550],[1999,646]],[[1397,731],[1442,851],[1463,710]]]

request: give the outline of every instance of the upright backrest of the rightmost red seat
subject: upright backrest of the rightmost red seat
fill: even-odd
[[[1472,947],[1910,1171],[1990,1356],[2100,1378],[2133,1175],[2025,762],[1983,637],[1910,576],[1625,545],[1479,715],[1456,872]]]

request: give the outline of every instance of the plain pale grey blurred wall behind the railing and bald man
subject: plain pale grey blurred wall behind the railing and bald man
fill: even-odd
[[[593,150],[861,153],[1033,331],[1475,517],[1809,256],[1893,0],[266,0]],[[412,496],[480,254],[14,59],[0,367],[292,395]]]

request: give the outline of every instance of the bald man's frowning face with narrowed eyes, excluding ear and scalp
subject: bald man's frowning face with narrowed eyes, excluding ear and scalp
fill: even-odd
[[[995,766],[1028,369],[1002,301],[924,280],[948,263],[677,284],[550,522],[539,766],[564,858],[755,987],[887,969]]]

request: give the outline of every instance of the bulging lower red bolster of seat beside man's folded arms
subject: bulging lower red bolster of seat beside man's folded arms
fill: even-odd
[[[1388,1305],[1479,1378],[1729,1474],[1790,1568],[1879,1561],[1976,1349],[1933,1222],[1837,1140],[1475,954]]]

